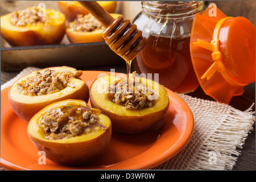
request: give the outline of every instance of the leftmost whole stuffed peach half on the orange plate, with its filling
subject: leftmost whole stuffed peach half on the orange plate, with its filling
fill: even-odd
[[[51,67],[34,71],[17,80],[9,90],[9,101],[22,119],[30,119],[53,102],[69,98],[89,100],[89,88],[80,79],[82,71],[71,67]]]

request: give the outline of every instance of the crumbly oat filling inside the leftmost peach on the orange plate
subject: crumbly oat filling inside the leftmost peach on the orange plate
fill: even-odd
[[[43,73],[36,72],[36,76],[27,77],[18,82],[17,88],[20,93],[27,96],[40,96],[59,92],[67,86],[75,88],[69,80],[71,78],[80,78],[82,71],[63,71],[57,72],[54,69],[46,69]]]

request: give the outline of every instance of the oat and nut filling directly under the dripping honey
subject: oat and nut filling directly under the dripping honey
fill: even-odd
[[[115,104],[125,106],[126,109],[144,109],[154,106],[158,100],[158,94],[147,88],[141,78],[135,78],[135,74],[127,80],[120,79],[110,84],[106,97]]]

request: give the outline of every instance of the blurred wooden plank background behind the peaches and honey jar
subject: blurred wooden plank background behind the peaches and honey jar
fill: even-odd
[[[23,10],[29,6],[36,6],[39,2],[46,4],[49,9],[57,8],[55,1],[0,1],[0,15],[11,13],[15,10]],[[237,1],[205,1],[205,4],[216,3],[217,7],[227,16],[244,16],[256,26],[256,1],[255,0],[237,0]],[[117,13],[122,13],[127,19],[133,19],[141,11],[141,1],[123,1],[118,2]],[[63,39],[63,44],[69,43],[67,38]],[[1,38],[1,47],[6,46],[5,40]]]

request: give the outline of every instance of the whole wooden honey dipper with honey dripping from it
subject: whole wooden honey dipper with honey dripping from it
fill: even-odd
[[[102,36],[110,49],[126,61],[128,78],[131,60],[146,45],[146,38],[142,36],[142,31],[137,30],[137,26],[131,24],[130,20],[125,20],[123,16],[114,19],[96,1],[79,2],[106,28]]]

